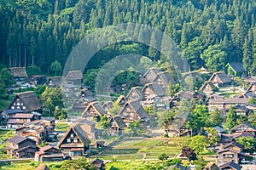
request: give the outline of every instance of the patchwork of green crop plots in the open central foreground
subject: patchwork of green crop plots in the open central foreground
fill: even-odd
[[[162,153],[173,157],[181,152],[189,138],[132,139],[121,142],[99,155],[105,160],[158,159]]]

